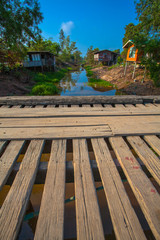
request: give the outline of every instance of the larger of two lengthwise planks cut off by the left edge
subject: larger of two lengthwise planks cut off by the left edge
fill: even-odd
[[[0,160],[0,190],[6,183],[21,152],[24,141],[11,141]]]

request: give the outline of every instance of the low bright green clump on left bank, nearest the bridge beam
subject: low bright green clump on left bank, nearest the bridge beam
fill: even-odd
[[[51,83],[45,83],[45,84],[39,84],[33,87],[31,94],[32,95],[39,95],[39,96],[45,96],[45,95],[54,95],[59,92],[57,86],[51,84]]]

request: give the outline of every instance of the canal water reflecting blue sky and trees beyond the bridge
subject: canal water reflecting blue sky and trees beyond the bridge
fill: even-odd
[[[61,96],[91,96],[91,95],[109,95],[116,93],[115,89],[104,87],[91,87],[87,85],[88,77],[86,71],[80,69],[76,72],[70,72],[61,80]]]

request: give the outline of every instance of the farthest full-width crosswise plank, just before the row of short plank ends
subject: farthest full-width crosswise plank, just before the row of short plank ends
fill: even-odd
[[[3,108],[0,111],[1,118],[17,118],[17,117],[68,117],[68,116],[131,116],[131,115],[160,115],[160,109],[139,109],[137,107],[116,109],[108,107],[74,107],[74,108]]]

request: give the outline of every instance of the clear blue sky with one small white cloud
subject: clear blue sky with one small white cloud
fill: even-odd
[[[134,0],[40,0],[40,5],[43,36],[58,41],[63,27],[83,55],[91,45],[122,51],[124,27],[131,22],[137,24]]]

